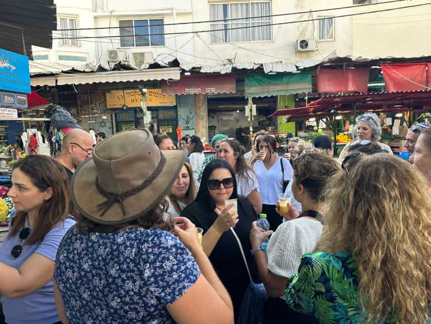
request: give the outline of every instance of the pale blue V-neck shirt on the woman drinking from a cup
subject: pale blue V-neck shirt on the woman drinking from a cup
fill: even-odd
[[[283,164],[284,172],[281,172],[280,159]],[[283,181],[292,180],[293,170],[288,160],[278,158],[274,165],[266,169],[262,161],[257,161],[254,165],[254,171],[259,181],[262,204],[276,205],[278,194],[283,192]]]

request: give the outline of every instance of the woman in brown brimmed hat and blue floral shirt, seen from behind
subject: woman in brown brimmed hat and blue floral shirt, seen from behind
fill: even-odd
[[[61,242],[54,274],[64,324],[233,322],[196,227],[163,219],[163,197],[184,158],[136,129],[100,142],[75,171],[71,195],[81,215]]]

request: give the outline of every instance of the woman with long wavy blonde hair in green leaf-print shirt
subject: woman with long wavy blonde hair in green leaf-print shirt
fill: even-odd
[[[431,197],[407,162],[359,156],[326,188],[323,232],[286,286],[295,310],[330,323],[431,323]]]

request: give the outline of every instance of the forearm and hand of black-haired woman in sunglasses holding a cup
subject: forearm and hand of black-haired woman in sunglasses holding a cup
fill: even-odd
[[[221,235],[231,227],[235,227],[238,220],[238,215],[230,215],[229,210],[233,204],[226,207],[217,217],[214,224],[202,236],[202,248],[207,256],[210,256],[216,246]]]

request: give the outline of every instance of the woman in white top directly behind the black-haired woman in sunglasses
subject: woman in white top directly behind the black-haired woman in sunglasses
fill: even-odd
[[[256,214],[262,212],[262,199],[259,183],[253,170],[248,166],[244,154],[246,149],[235,139],[225,139],[220,144],[219,158],[225,160],[235,172],[236,190],[238,195],[249,198]]]

